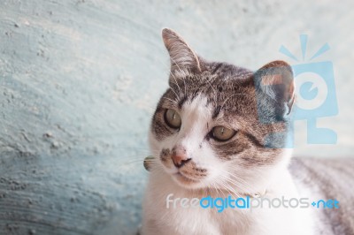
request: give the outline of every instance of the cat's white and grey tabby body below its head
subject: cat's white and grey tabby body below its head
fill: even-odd
[[[142,234],[354,234],[354,160],[294,158],[289,164],[294,188],[287,193],[290,197],[312,197],[312,199],[336,199],[339,209],[307,209],[300,211],[267,210],[265,213],[226,210],[211,213],[204,208],[166,209],[165,197],[173,193],[177,197],[203,197],[205,193],[191,193],[175,187],[171,178],[152,172],[145,197],[144,231]],[[281,177],[280,177],[281,178]],[[293,183],[294,181],[294,183]],[[274,182],[279,183],[279,182]],[[281,185],[277,185],[279,187]],[[210,194],[210,192],[208,192]],[[283,192],[280,192],[281,194]],[[215,197],[219,193],[214,192]],[[158,200],[159,199],[159,200]],[[307,210],[307,211],[306,211]],[[273,212],[273,213],[272,213]],[[290,212],[290,213],[289,213]],[[248,214],[248,215],[247,215]],[[297,221],[291,215],[297,216]],[[250,228],[252,227],[252,228]],[[260,229],[261,231],[255,231]],[[266,230],[269,231],[266,232]]]

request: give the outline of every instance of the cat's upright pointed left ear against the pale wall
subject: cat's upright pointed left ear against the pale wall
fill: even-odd
[[[162,39],[171,59],[171,72],[193,71],[201,72],[200,62],[196,53],[181,36],[169,28],[162,30]]]

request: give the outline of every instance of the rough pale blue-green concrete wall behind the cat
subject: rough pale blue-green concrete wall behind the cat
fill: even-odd
[[[130,234],[141,220],[151,112],[167,86],[171,27],[204,57],[251,69],[311,53],[335,64],[339,115],[321,125],[350,155],[351,1],[40,1],[0,3],[0,234]],[[310,53],[309,52],[309,53]],[[291,60],[289,60],[292,63]],[[320,150],[319,150],[320,149]]]

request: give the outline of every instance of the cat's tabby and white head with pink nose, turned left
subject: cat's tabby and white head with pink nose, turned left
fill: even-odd
[[[289,64],[251,72],[205,61],[170,29],[162,37],[171,72],[150,127],[152,171],[163,169],[186,188],[266,186],[289,160],[282,148],[294,101]]]

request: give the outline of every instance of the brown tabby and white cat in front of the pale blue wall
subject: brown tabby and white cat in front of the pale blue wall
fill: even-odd
[[[284,148],[295,101],[289,64],[273,61],[252,72],[206,61],[171,29],[163,29],[162,38],[171,71],[150,125],[154,157],[142,235],[333,234],[328,226],[319,228],[324,216],[313,208],[226,208],[219,213],[178,203],[168,207],[167,198],[300,198],[313,186],[311,180],[294,180],[288,167],[291,150]],[[305,164],[292,163],[291,172],[305,178]]]

